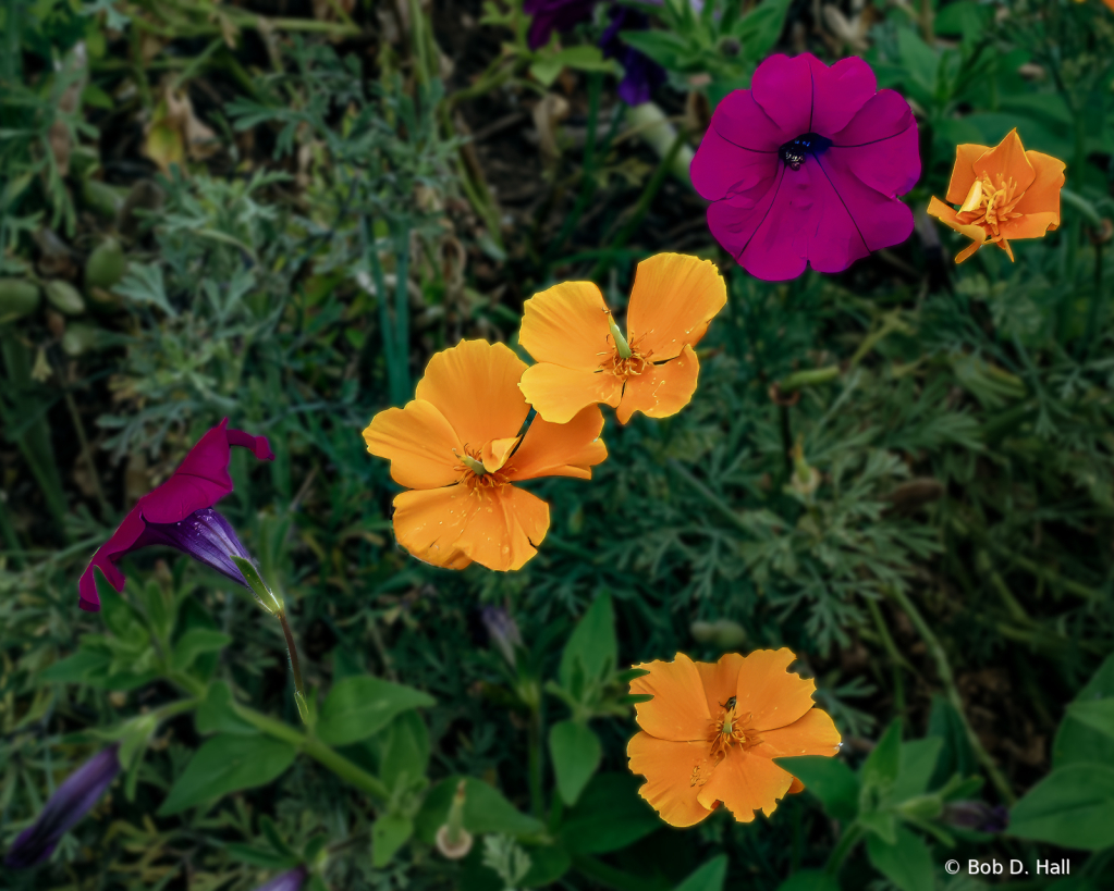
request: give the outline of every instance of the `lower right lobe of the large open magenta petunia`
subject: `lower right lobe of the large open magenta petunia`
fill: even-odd
[[[840,273],[872,250],[912,234],[912,210],[854,176],[842,154],[805,162],[817,198],[809,217],[809,263],[819,273]]]

